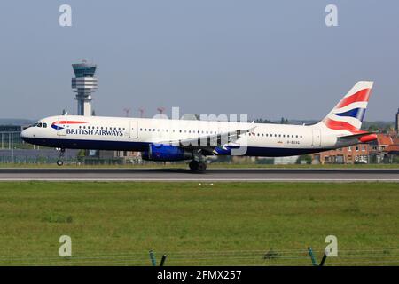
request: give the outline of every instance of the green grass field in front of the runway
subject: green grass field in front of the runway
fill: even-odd
[[[399,184],[3,182],[0,225],[3,265],[398,265]]]

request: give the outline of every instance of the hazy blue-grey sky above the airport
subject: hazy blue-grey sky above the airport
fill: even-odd
[[[59,26],[59,6],[72,27]],[[326,27],[325,6],[338,7]],[[365,120],[399,107],[399,2],[1,1],[0,117],[76,114],[71,64],[98,64],[98,115],[158,106],[187,114],[321,119],[359,80]]]

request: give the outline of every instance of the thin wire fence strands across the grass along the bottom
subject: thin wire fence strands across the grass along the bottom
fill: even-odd
[[[148,251],[109,252],[103,254],[76,254],[69,258],[54,255],[12,255],[11,251],[0,250],[0,265],[151,265]],[[320,263],[323,249],[314,249]],[[9,256],[7,256],[9,255]],[[180,251],[155,252],[156,264],[160,256],[168,255],[165,266],[174,265],[243,265],[243,266],[311,266],[307,248],[287,250],[232,250],[232,251]],[[340,249],[337,257],[327,257],[329,265],[399,265],[399,248],[354,248]]]

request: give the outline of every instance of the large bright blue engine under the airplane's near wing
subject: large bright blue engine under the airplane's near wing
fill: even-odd
[[[192,152],[180,146],[150,144],[148,150],[142,153],[143,160],[148,161],[183,161],[192,159]]]

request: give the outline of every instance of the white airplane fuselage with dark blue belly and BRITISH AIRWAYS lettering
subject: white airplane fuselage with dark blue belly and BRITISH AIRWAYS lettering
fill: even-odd
[[[251,129],[225,146],[246,146],[243,155],[288,156],[337,148],[337,137],[346,130],[323,124],[287,125],[243,122],[118,118],[101,116],[51,116],[27,128],[21,137],[41,146],[78,149],[145,151],[150,144],[203,138],[237,129]],[[346,145],[356,144],[356,140]]]

